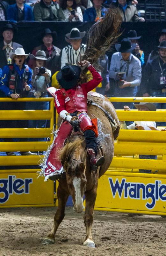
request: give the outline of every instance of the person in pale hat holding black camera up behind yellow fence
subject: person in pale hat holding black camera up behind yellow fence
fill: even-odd
[[[35,60],[34,68],[32,69],[32,89],[28,93],[28,97],[44,97],[47,98],[47,88],[51,80],[51,71],[46,67],[46,62],[51,60],[51,57],[46,58],[44,51],[36,52],[36,55],[30,55],[30,59]],[[26,103],[26,109],[48,110],[49,101],[29,101]],[[46,128],[47,120],[29,120],[29,128]],[[46,141],[46,138],[30,138],[29,141]],[[43,155],[43,152],[40,152]]]

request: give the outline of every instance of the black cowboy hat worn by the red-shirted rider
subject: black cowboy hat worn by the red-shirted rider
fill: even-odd
[[[66,65],[57,73],[56,79],[62,88],[71,89],[78,83],[80,73],[81,68],[79,66]]]

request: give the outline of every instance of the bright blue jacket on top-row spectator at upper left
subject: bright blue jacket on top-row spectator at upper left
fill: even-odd
[[[12,22],[18,21],[17,4],[9,5],[9,7],[7,9],[7,20],[10,20]],[[34,20],[32,9],[27,4],[24,4],[24,20]]]

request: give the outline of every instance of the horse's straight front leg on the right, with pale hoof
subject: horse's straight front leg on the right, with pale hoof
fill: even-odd
[[[86,227],[86,239],[83,245],[95,248],[95,243],[92,239],[92,224],[93,224],[93,209],[97,196],[97,188],[85,192],[86,208],[84,214],[84,223]]]

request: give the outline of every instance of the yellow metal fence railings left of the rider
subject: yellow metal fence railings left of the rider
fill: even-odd
[[[47,138],[50,137],[50,141],[44,142],[2,142],[0,143],[0,151],[44,151],[53,141],[53,126],[54,126],[54,98],[0,98],[0,102],[22,102],[22,101],[50,101],[50,110],[0,110],[0,120],[50,120],[50,128],[2,128],[0,129],[0,138]],[[23,159],[24,156],[17,156],[10,158],[6,163],[6,157],[0,157],[0,165],[22,165],[37,164],[39,156],[28,156]],[[31,159],[31,160],[29,160]],[[25,160],[25,161],[24,161]],[[17,164],[16,164],[17,163]]]

